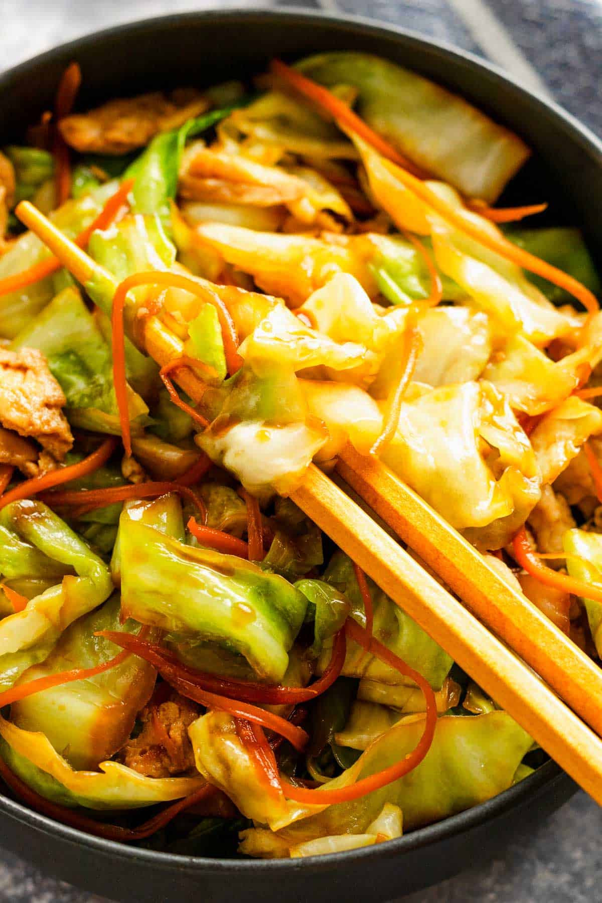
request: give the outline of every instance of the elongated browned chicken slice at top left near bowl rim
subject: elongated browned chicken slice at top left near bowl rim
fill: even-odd
[[[81,154],[126,154],[144,147],[159,132],[199,116],[208,106],[208,99],[194,88],[180,88],[170,95],[156,91],[116,98],[88,113],[65,116],[60,134]]]

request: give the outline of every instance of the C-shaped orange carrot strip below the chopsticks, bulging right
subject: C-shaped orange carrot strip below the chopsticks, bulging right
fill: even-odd
[[[282,782],[282,790],[284,796],[295,800],[297,803],[306,803],[310,805],[331,805],[333,803],[347,803],[349,800],[358,799],[360,796],[379,790],[387,784],[398,780],[403,775],[407,775],[410,771],[420,765],[422,759],[426,756],[435,735],[437,726],[437,703],[435,702],[435,694],[432,692],[431,684],[424,677],[415,671],[409,665],[406,665],[403,659],[396,656],[390,649],[379,643],[374,637],[370,637],[364,628],[361,628],[351,618],[347,618],[345,625],[347,637],[355,640],[360,646],[363,646],[367,652],[371,652],[387,665],[394,667],[400,674],[411,677],[412,681],[421,688],[426,703],[426,715],[424,721],[424,731],[421,739],[418,741],[415,749],[412,750],[401,761],[384,768],[383,771],[377,771],[374,775],[363,777],[355,784],[348,787],[337,787],[329,789],[323,787],[320,790],[313,790],[307,787],[293,787],[292,784]]]

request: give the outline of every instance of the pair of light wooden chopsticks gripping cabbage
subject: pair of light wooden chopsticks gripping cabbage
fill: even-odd
[[[24,201],[18,215],[79,282],[91,279],[96,265],[39,210]],[[161,365],[181,357],[157,316],[144,343]],[[190,369],[174,378],[199,400]],[[602,804],[602,670],[381,461],[347,445],[338,473],[470,610],[315,465],[292,500]]]

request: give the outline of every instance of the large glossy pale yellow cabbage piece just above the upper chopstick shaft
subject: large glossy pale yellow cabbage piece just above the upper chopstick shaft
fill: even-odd
[[[529,440],[485,382],[404,402],[383,460],[480,548],[505,545],[540,497]]]

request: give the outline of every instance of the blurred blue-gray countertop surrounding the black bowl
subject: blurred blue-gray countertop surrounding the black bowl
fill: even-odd
[[[255,0],[0,0],[0,70],[119,22],[210,6],[257,5]],[[263,5],[269,4],[264,0]],[[549,93],[602,135],[602,0],[307,0],[303,5],[370,15],[480,53],[525,87]],[[503,859],[467,862],[458,878],[406,903],[592,903],[602,898],[601,829],[597,805],[579,793],[536,833],[508,847]],[[0,900],[103,903],[2,850]]]

